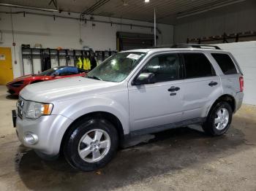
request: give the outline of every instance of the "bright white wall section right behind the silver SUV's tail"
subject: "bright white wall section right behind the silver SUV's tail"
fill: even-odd
[[[244,73],[244,103],[256,105],[256,41],[217,44],[233,54]]]

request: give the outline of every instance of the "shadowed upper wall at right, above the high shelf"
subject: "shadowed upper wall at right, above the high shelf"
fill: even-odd
[[[242,7],[241,7],[242,8]],[[225,10],[224,10],[225,11]],[[200,15],[198,15],[199,17]],[[217,16],[201,15],[200,19],[175,26],[176,43],[186,43],[187,38],[199,38],[203,36],[217,36],[238,32],[256,31],[256,8],[241,9],[237,12],[227,12]],[[252,40],[252,39],[244,39]],[[213,42],[210,42],[213,43]]]

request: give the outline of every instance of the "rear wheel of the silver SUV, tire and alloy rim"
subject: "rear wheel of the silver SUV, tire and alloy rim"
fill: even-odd
[[[227,112],[228,114],[226,114]],[[208,135],[221,136],[227,132],[228,128],[230,128],[232,117],[233,110],[230,104],[221,101],[214,105],[209,112],[206,122],[203,124],[203,130]]]

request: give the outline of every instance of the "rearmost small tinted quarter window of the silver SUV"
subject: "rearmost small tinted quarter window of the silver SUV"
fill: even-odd
[[[222,69],[223,74],[237,74],[236,66],[229,55],[219,53],[213,53],[211,55],[219,64],[219,67],[220,69]]]

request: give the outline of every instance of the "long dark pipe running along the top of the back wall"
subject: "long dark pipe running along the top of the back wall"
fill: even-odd
[[[24,14],[24,12],[2,12],[0,11],[0,13],[6,13],[6,14]],[[67,16],[61,16],[61,15],[48,15],[48,14],[44,14],[44,13],[39,13],[39,12],[25,12],[26,15],[40,15],[40,16],[45,16],[45,17],[59,17],[59,18],[65,18],[65,19],[72,19],[72,20],[80,20],[79,17],[67,17]],[[128,23],[118,23],[118,22],[112,22],[112,21],[105,21],[105,20],[87,20],[87,21],[91,21],[94,23],[108,23],[111,26],[113,24],[116,25],[120,25],[120,26],[129,26],[129,27],[141,27],[141,28],[150,28],[151,30],[154,29],[154,26],[143,26],[143,25],[136,25],[136,24],[128,24]],[[162,31],[159,30],[159,28],[157,28],[157,31],[159,32],[159,34],[162,34]]]

